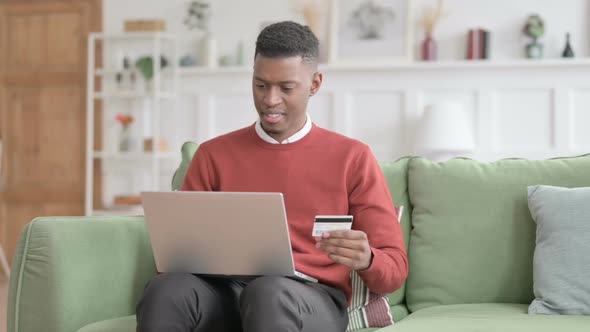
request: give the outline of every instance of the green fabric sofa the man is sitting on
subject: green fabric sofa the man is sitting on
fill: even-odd
[[[194,144],[183,147],[184,178]],[[589,331],[588,316],[527,314],[535,224],[527,186],[590,186],[590,155],[543,161],[383,163],[408,245],[410,275],[378,331]],[[22,232],[10,280],[9,332],[131,332],[155,274],[142,217],[44,217]],[[377,331],[366,329],[363,331]]]

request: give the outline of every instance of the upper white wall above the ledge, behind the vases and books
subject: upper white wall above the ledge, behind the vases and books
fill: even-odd
[[[292,10],[293,0],[211,0],[211,28],[218,43],[218,53],[233,53],[240,40],[246,45],[246,59],[252,58],[259,26],[265,21],[292,19],[302,21]],[[409,0],[413,7],[412,30],[415,44],[422,37],[417,18],[425,6],[435,0]],[[130,18],[163,18],[167,31],[197,35],[183,25],[188,0],[104,0],[104,30],[123,31]],[[547,57],[557,57],[564,45],[565,32],[571,32],[578,56],[590,55],[590,2],[587,0],[446,0],[451,13],[435,32],[440,59],[461,59],[465,53],[466,31],[485,27],[492,31],[492,56],[495,59],[522,57],[526,38],[521,28],[526,17],[539,13],[547,33],[542,41]],[[187,46],[188,49],[189,46]]]

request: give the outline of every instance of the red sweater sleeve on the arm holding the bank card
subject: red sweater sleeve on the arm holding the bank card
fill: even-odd
[[[357,271],[375,293],[391,293],[408,275],[408,258],[403,232],[383,172],[368,146],[351,169],[349,183],[353,228],[367,234],[373,252],[368,269]]]

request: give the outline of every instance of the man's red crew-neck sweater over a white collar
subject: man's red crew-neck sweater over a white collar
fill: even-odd
[[[182,190],[281,192],[297,271],[337,287],[350,301],[350,269],[315,247],[315,215],[354,215],[368,235],[371,266],[359,275],[375,293],[402,286],[408,261],[381,169],[366,144],[313,125],[290,144],[262,140],[254,126],[199,146]]]

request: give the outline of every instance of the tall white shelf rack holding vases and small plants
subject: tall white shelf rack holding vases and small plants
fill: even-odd
[[[177,88],[177,36],[161,32],[125,32],[125,33],[91,33],[88,39],[87,52],[87,80],[86,85],[86,115],[87,115],[87,152],[86,152],[86,189],[84,198],[84,212],[86,215],[94,216],[128,216],[142,215],[141,205],[113,205],[115,201],[112,193],[120,191],[135,192],[138,188],[158,188],[168,182],[169,174],[178,166],[182,156],[177,148],[176,142],[170,142],[174,149],[165,152],[162,144],[153,144],[156,141],[152,137],[154,151],[145,152],[146,141],[140,131],[134,132],[133,137],[140,144],[133,147],[137,149],[131,152],[118,152],[118,145],[114,141],[113,131],[108,125],[98,125],[93,119],[97,118],[95,108],[101,106],[101,113],[98,116],[111,117],[110,114],[127,113],[137,115],[141,122],[142,130],[151,128],[158,139],[163,138],[161,132],[166,132],[167,122],[162,121],[163,116],[172,117],[172,124],[178,122],[176,107],[165,107],[174,104],[179,94]],[[154,66],[153,78],[147,80],[141,71],[130,68],[135,73],[135,80],[132,81],[128,75],[123,74],[122,56],[131,56],[138,52],[151,55],[154,59],[161,56],[167,57],[170,61],[166,68]],[[101,54],[102,53],[102,54]],[[127,53],[127,54],[126,54]],[[103,59],[99,64],[97,59]],[[130,59],[133,59],[131,57]],[[155,61],[158,62],[158,61]],[[131,67],[134,62],[130,63]],[[104,67],[103,67],[104,66]],[[133,82],[133,84],[131,84]],[[128,84],[125,84],[128,83]],[[100,84],[100,85],[99,85]],[[104,105],[96,103],[97,100],[106,101]],[[141,112],[141,113],[140,113]],[[169,114],[172,113],[172,114]],[[106,121],[106,120],[103,120]],[[100,131],[100,132],[99,132]],[[96,135],[96,133],[101,133]],[[172,136],[172,134],[171,134]],[[95,139],[105,140],[105,146],[96,151]],[[149,137],[145,137],[149,138]],[[177,139],[176,137],[170,137]],[[95,163],[94,161],[101,161]],[[96,169],[95,169],[96,167]],[[137,174],[135,170],[140,171]],[[116,173],[117,175],[113,175]],[[94,175],[99,174],[99,177]],[[129,181],[122,181],[121,177]],[[100,181],[100,182],[97,182]],[[95,183],[96,182],[96,183]],[[95,186],[100,186],[95,190]],[[99,193],[102,197],[95,197]],[[94,202],[97,199],[108,202],[104,209],[97,209]],[[132,202],[137,203],[137,202]]]

